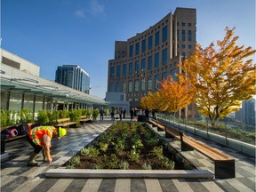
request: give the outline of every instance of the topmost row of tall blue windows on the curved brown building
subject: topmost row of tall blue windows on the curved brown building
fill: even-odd
[[[160,44],[160,37],[159,37],[159,31],[156,32],[155,34],[155,46]],[[165,41],[167,41],[168,38],[168,26],[164,27],[162,29],[162,42],[164,43]],[[146,52],[147,49],[147,42],[146,39],[142,40],[141,42],[141,47],[140,47],[140,42],[135,44],[135,55],[140,54],[140,52]],[[148,37],[148,50],[153,48],[153,36],[149,36]],[[133,49],[133,44],[130,45],[129,48],[129,57],[133,57],[134,55],[134,49]]]

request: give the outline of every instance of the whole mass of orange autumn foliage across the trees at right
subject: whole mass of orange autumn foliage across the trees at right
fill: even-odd
[[[217,46],[212,43],[203,49],[196,44],[195,53],[179,65],[179,81],[168,77],[156,93],[141,99],[142,107],[176,112],[193,99],[199,113],[212,124],[237,111],[243,100],[255,95],[255,64],[248,57],[256,51],[236,45],[239,37],[233,35],[234,28],[226,28],[226,36]]]

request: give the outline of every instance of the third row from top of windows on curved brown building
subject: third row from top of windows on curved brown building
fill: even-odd
[[[177,69],[174,68],[170,71],[170,76],[172,76],[172,78],[176,81],[177,80],[177,76],[175,76],[175,74],[177,73]],[[162,79],[161,81],[163,81],[164,79],[166,79],[168,76],[167,72],[162,73]],[[160,76],[159,74],[156,74],[154,76],[154,89],[157,89],[159,87],[159,81],[160,81]],[[153,88],[153,84],[152,84],[152,77],[148,76],[148,89],[146,90],[146,78],[141,78],[139,79],[135,79],[134,82],[133,81],[128,81],[128,92],[145,92],[145,91],[149,91],[152,90]],[[109,84],[109,90],[108,92],[127,92],[126,90],[126,84],[127,81],[124,81],[122,83],[122,86],[120,84],[120,82],[116,82],[116,89],[115,89],[115,83],[114,82],[110,82]],[[134,89],[134,90],[133,90]]]

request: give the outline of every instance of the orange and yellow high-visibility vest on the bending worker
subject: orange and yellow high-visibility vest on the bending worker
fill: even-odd
[[[37,126],[28,132],[30,139],[38,146],[44,146],[43,136],[46,134],[52,140],[52,134],[55,127],[52,126]]]

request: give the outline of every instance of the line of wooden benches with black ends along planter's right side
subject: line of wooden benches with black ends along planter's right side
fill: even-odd
[[[151,122],[151,121],[150,121]],[[236,170],[235,170],[235,159],[227,156],[220,151],[205,145],[202,142],[197,140],[193,140],[186,136],[183,132],[180,132],[178,129],[172,127],[171,125],[166,125],[161,122],[156,122],[156,120],[152,120],[152,124],[157,124],[157,126],[161,126],[165,130],[165,137],[173,137],[181,142],[181,151],[190,151],[196,150],[202,153],[204,156],[207,156],[214,162],[214,173],[216,179],[224,179],[224,178],[235,178]]]

